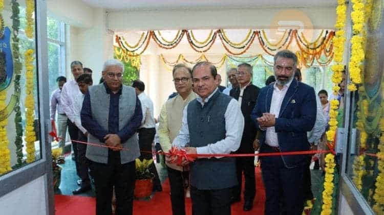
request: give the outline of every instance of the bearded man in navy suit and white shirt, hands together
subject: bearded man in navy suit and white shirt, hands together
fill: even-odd
[[[316,95],[312,87],[293,78],[296,65],[294,53],[288,50],[276,53],[273,65],[276,82],[260,90],[251,117],[262,130],[261,153],[309,150],[307,132],[316,120]],[[265,214],[302,214],[305,158],[305,155],[261,157]]]

